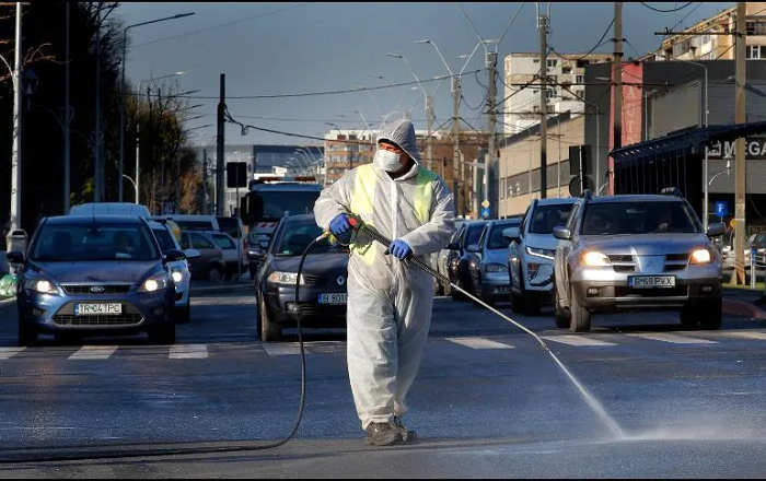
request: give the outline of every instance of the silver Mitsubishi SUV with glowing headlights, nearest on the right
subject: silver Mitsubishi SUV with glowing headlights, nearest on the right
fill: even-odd
[[[663,193],[668,189],[663,190]],[[591,329],[593,313],[678,309],[686,329],[721,327],[721,259],[701,223],[673,189],[668,195],[590,198],[572,208],[554,261],[556,326]]]

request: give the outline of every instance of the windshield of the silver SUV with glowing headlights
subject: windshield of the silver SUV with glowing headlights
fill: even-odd
[[[582,219],[582,235],[694,234],[699,227],[683,202],[591,203]]]

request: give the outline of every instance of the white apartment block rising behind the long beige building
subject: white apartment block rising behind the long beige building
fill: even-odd
[[[539,122],[539,54],[510,54],[503,59],[503,133],[513,136]],[[547,58],[547,110],[549,114],[581,113],[585,66],[610,62],[608,54],[558,54]],[[524,86],[530,84],[530,86]]]

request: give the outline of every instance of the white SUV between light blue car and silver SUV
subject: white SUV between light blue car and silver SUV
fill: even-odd
[[[517,228],[508,228],[507,271],[510,277],[511,310],[523,315],[539,313],[553,301],[554,256],[558,239],[554,227],[567,225],[576,199],[535,199]]]

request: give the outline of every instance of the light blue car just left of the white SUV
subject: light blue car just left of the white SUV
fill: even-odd
[[[468,261],[469,292],[490,306],[497,301],[508,300],[511,288],[506,267],[508,239],[502,236],[502,232],[520,223],[520,219],[487,222],[478,241],[478,250],[472,254]]]

